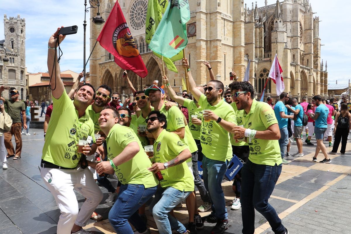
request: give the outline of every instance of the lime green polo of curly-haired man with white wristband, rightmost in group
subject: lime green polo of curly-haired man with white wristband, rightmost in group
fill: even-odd
[[[244,119],[244,128],[255,129],[256,131],[265,131],[269,126],[278,124],[272,107],[255,99],[252,100],[250,112],[247,114],[244,112]],[[269,166],[282,163],[278,140],[253,138],[251,143],[249,142],[249,146],[249,160],[251,162]]]

